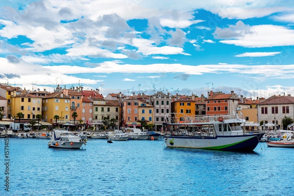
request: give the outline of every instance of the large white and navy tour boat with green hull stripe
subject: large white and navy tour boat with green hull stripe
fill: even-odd
[[[252,151],[264,133],[246,134],[237,112],[234,115],[188,116],[175,114],[168,118],[165,115],[167,147],[215,149],[228,151]]]

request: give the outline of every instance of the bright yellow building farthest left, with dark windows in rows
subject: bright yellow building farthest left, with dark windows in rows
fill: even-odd
[[[28,93],[11,94],[11,115],[17,118],[17,113],[22,112],[24,119],[35,119],[37,114],[42,114],[42,98]]]

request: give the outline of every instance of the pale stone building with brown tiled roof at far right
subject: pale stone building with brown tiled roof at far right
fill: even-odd
[[[258,122],[273,123],[287,130],[282,127],[282,120],[285,117],[294,119],[294,97],[274,95],[257,104],[257,114]]]

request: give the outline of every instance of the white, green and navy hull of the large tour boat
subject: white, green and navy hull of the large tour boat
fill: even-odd
[[[217,137],[165,136],[165,143],[167,147],[252,151],[259,144],[259,137],[260,134]]]

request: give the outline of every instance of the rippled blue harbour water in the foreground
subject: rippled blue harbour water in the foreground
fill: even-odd
[[[292,196],[294,149],[252,153],[166,148],[158,141],[89,140],[84,149],[48,148],[45,139],[9,139],[11,196]]]

